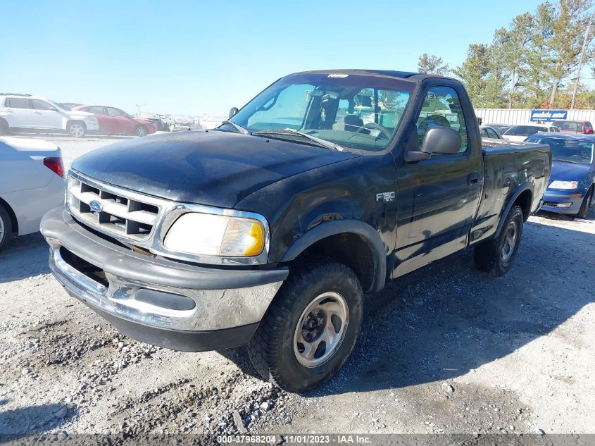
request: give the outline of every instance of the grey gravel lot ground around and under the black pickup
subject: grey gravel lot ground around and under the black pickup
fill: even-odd
[[[44,139],[67,166],[114,140]],[[368,295],[346,366],[292,395],[244,349],[119,335],[19,237],[0,253],[0,433],[595,433],[594,254],[595,216],[534,216],[503,278],[465,252]]]

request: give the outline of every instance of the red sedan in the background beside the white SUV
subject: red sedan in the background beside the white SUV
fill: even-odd
[[[99,132],[106,133],[131,133],[137,136],[144,136],[147,133],[155,133],[157,127],[150,120],[132,118],[123,110],[105,105],[81,105],[73,110],[88,111],[97,116],[99,121]]]

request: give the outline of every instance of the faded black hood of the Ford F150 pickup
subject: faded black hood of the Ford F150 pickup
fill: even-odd
[[[232,208],[273,182],[356,156],[265,137],[196,130],[117,142],[80,156],[72,168],[155,197]]]

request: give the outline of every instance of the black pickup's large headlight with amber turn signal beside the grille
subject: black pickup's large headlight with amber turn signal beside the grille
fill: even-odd
[[[265,240],[265,227],[256,219],[189,212],[173,223],[163,246],[188,254],[249,257],[263,252]]]

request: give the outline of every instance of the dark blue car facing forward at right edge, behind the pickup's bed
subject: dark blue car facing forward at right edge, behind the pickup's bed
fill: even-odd
[[[595,137],[547,132],[526,141],[551,147],[551,177],[541,209],[587,217],[595,190]]]

